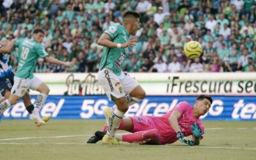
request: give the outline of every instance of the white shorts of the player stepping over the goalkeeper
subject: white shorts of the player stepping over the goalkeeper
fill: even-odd
[[[117,76],[109,68],[99,70],[98,81],[106,92],[109,100],[119,99],[126,94],[129,95],[129,93],[139,85],[139,83],[128,74],[122,72],[120,76]]]

